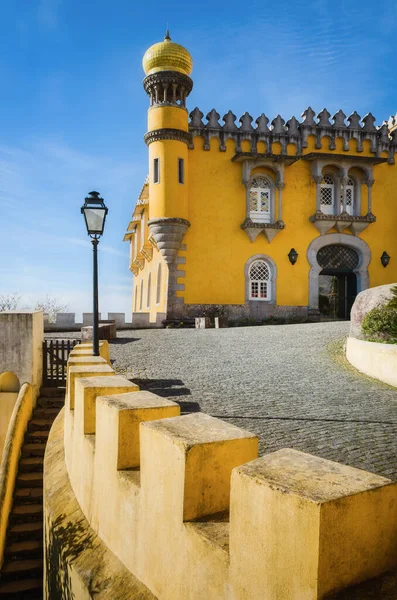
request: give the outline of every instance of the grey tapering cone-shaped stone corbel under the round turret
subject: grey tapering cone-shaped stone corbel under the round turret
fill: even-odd
[[[156,242],[165,262],[172,264],[190,227],[189,221],[178,218],[151,219],[148,226],[150,237]]]

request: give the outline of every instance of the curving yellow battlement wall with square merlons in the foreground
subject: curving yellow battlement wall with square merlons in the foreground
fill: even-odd
[[[70,485],[101,542],[159,600],[315,600],[396,566],[396,483],[291,449],[257,458],[252,433],[179,416],[90,360],[68,367]],[[59,465],[47,469],[50,498]]]

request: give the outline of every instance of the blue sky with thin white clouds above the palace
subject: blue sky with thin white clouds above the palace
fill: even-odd
[[[397,112],[397,4],[379,0],[2,0],[0,294],[92,310],[80,206],[109,207],[100,309],[131,311],[122,242],[147,171],[142,56],[164,36],[194,60],[189,108],[273,119]]]

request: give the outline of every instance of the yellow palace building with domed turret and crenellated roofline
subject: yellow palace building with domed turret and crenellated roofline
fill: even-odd
[[[298,121],[188,112],[189,52],[149,48],[149,175],[125,240],[133,323],[348,318],[397,281],[397,122],[309,107]],[[336,300],[335,300],[336,298]],[[333,300],[332,300],[333,299]]]

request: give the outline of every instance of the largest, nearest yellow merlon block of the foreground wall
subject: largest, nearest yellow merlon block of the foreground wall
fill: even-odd
[[[290,449],[234,470],[235,600],[317,600],[396,562],[397,484],[389,479]]]

